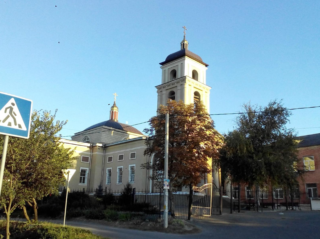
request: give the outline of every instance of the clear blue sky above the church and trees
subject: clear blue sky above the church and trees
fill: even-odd
[[[64,138],[109,119],[156,115],[159,62],[189,50],[207,64],[210,113],[283,99],[320,105],[320,1],[0,1],[0,91],[58,109]],[[108,105],[110,104],[110,105]],[[320,108],[292,111],[298,135],[320,133]],[[235,115],[212,116],[227,133]],[[148,124],[135,126],[142,131]]]

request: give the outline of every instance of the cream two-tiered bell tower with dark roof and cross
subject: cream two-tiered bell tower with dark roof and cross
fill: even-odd
[[[182,100],[185,104],[202,101],[209,113],[210,86],[206,85],[205,73],[208,64],[202,58],[188,50],[186,27],[180,50],[159,63],[162,69],[161,85],[156,86],[158,93],[157,108],[165,105],[168,99]]]

